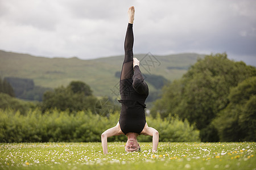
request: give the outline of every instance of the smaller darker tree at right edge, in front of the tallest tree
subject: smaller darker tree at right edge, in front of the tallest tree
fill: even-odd
[[[232,88],[230,103],[213,121],[221,141],[255,141],[256,76]]]

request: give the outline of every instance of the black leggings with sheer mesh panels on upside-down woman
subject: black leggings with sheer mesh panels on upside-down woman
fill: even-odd
[[[128,24],[126,36],[125,36],[125,59],[123,60],[123,66],[120,76],[119,90],[121,99],[130,99],[137,95],[148,95],[148,87],[144,82],[141,70],[139,66],[133,68],[133,24]],[[136,100],[133,99],[132,100]]]

